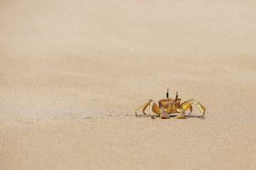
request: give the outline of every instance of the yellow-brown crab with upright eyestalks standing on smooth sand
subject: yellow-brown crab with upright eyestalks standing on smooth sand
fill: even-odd
[[[147,106],[149,106],[150,115],[152,119],[154,119],[152,115],[153,112],[160,115],[160,118],[170,118],[169,114],[171,113],[178,113],[178,115],[175,118],[184,118],[185,111],[187,111],[188,108],[190,110],[190,113],[188,113],[188,115],[190,115],[191,112],[193,111],[192,104],[196,104],[196,107],[199,109],[199,111],[201,111],[201,115],[199,115],[198,118],[203,118],[203,115],[206,113],[206,108],[193,98],[181,104],[180,103],[181,98],[178,98],[178,91],[176,92],[176,98],[172,99],[169,98],[169,89],[167,89],[166,98],[161,99],[159,101],[159,106],[157,106],[152,99],[146,100],[139,106],[137,106],[137,108],[135,109],[135,115],[137,117],[137,111],[139,110],[139,108],[142,108],[143,106],[144,108],[142,112],[144,113],[144,115],[146,115],[145,110]]]

